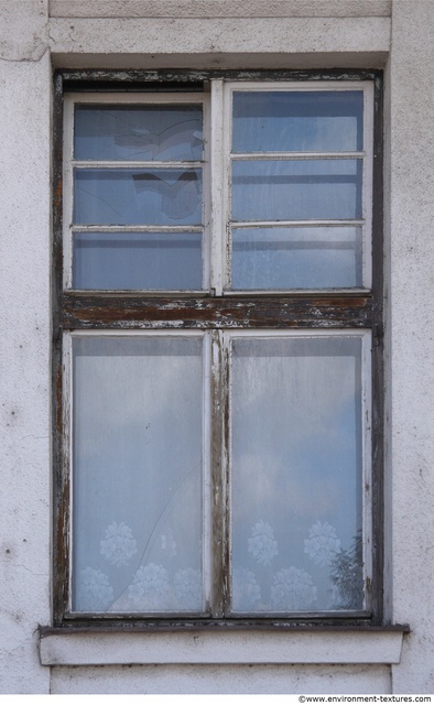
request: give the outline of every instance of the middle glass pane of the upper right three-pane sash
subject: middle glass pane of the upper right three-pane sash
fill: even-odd
[[[360,160],[251,160],[232,163],[234,220],[360,217]]]

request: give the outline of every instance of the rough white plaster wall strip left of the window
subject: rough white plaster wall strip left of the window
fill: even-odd
[[[0,3],[1,693],[47,692],[50,677],[36,633],[50,619],[51,67],[40,44],[43,6]]]

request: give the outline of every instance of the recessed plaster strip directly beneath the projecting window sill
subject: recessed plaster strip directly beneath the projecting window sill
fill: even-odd
[[[54,668],[52,693],[390,693],[387,666]]]

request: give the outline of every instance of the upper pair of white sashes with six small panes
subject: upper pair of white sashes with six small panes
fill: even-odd
[[[84,141],[74,152],[75,106],[202,107],[202,158],[197,131],[187,129],[192,159],[122,152],[122,135],[117,159],[109,149],[97,159],[90,141],[85,159]],[[372,119],[373,83],[365,80],[214,79],[209,94],[69,94],[65,289],[370,290]],[[132,138],[143,141],[134,126]]]

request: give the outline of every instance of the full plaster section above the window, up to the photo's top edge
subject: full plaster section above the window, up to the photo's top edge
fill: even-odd
[[[53,63],[72,68],[383,65],[389,0],[52,0]]]

